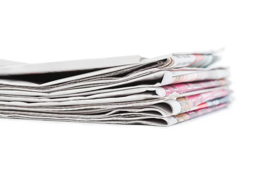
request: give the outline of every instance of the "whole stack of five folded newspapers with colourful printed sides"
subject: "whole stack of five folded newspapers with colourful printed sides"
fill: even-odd
[[[170,126],[230,103],[218,52],[26,64],[0,59],[0,118]]]

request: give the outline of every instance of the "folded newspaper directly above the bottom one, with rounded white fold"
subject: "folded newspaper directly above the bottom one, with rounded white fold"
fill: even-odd
[[[230,94],[228,88],[215,88],[213,91],[201,91],[200,93],[187,94],[186,98],[164,97],[159,99],[131,101],[131,102],[117,102],[117,103],[103,103],[103,104],[87,104],[87,105],[54,105],[53,103],[25,103],[25,102],[1,102],[1,110],[22,110],[22,111],[39,111],[39,112],[55,112],[55,113],[79,113],[79,114],[99,114],[106,111],[112,111],[117,108],[151,108],[151,105],[164,103],[169,105],[170,113],[180,113],[200,105],[202,102],[207,102],[210,99],[216,99]],[[177,98],[177,100],[175,100]]]

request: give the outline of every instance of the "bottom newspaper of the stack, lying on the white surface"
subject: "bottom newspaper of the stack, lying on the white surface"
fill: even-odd
[[[216,100],[212,104],[216,104]],[[0,111],[0,118],[12,119],[34,119],[34,120],[51,120],[51,121],[66,121],[66,122],[88,122],[88,123],[110,123],[110,124],[143,124],[154,126],[170,126],[186,120],[210,113],[212,111],[224,108],[228,102],[220,102],[219,105],[211,105],[211,107],[200,108],[195,111],[180,113],[174,116],[161,117],[161,116],[148,116],[143,113],[137,114],[130,113],[130,116],[125,113],[116,116],[105,116],[104,118],[84,118],[85,115],[56,115],[45,113],[29,113],[19,111]]]

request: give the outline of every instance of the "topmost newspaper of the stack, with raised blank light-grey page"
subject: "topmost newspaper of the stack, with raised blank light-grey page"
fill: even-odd
[[[216,52],[216,51],[215,51]],[[214,55],[215,52],[206,52],[204,54],[167,54],[151,59],[146,59],[139,55],[123,56],[123,57],[108,57],[98,59],[81,59],[61,62],[35,63],[9,65],[0,68],[0,75],[17,75],[17,74],[40,74],[53,72],[81,71],[94,70],[102,68],[117,68],[117,69],[102,69],[103,72],[109,73],[117,70],[122,70],[137,65],[146,65],[148,63],[165,60],[163,67],[181,68],[181,67],[206,67],[212,62],[218,60]],[[116,67],[120,66],[120,67]],[[93,72],[93,71],[92,71]],[[90,75],[90,74],[89,74]],[[94,74],[95,75],[95,74]]]

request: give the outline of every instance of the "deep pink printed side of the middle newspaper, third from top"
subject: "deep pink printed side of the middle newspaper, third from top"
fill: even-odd
[[[201,90],[205,88],[212,88],[227,85],[227,80],[212,80],[212,81],[204,81],[204,82],[194,82],[194,83],[179,83],[174,85],[165,85],[161,86],[166,92],[165,96],[171,95],[173,92],[178,94],[182,94],[189,91]]]

